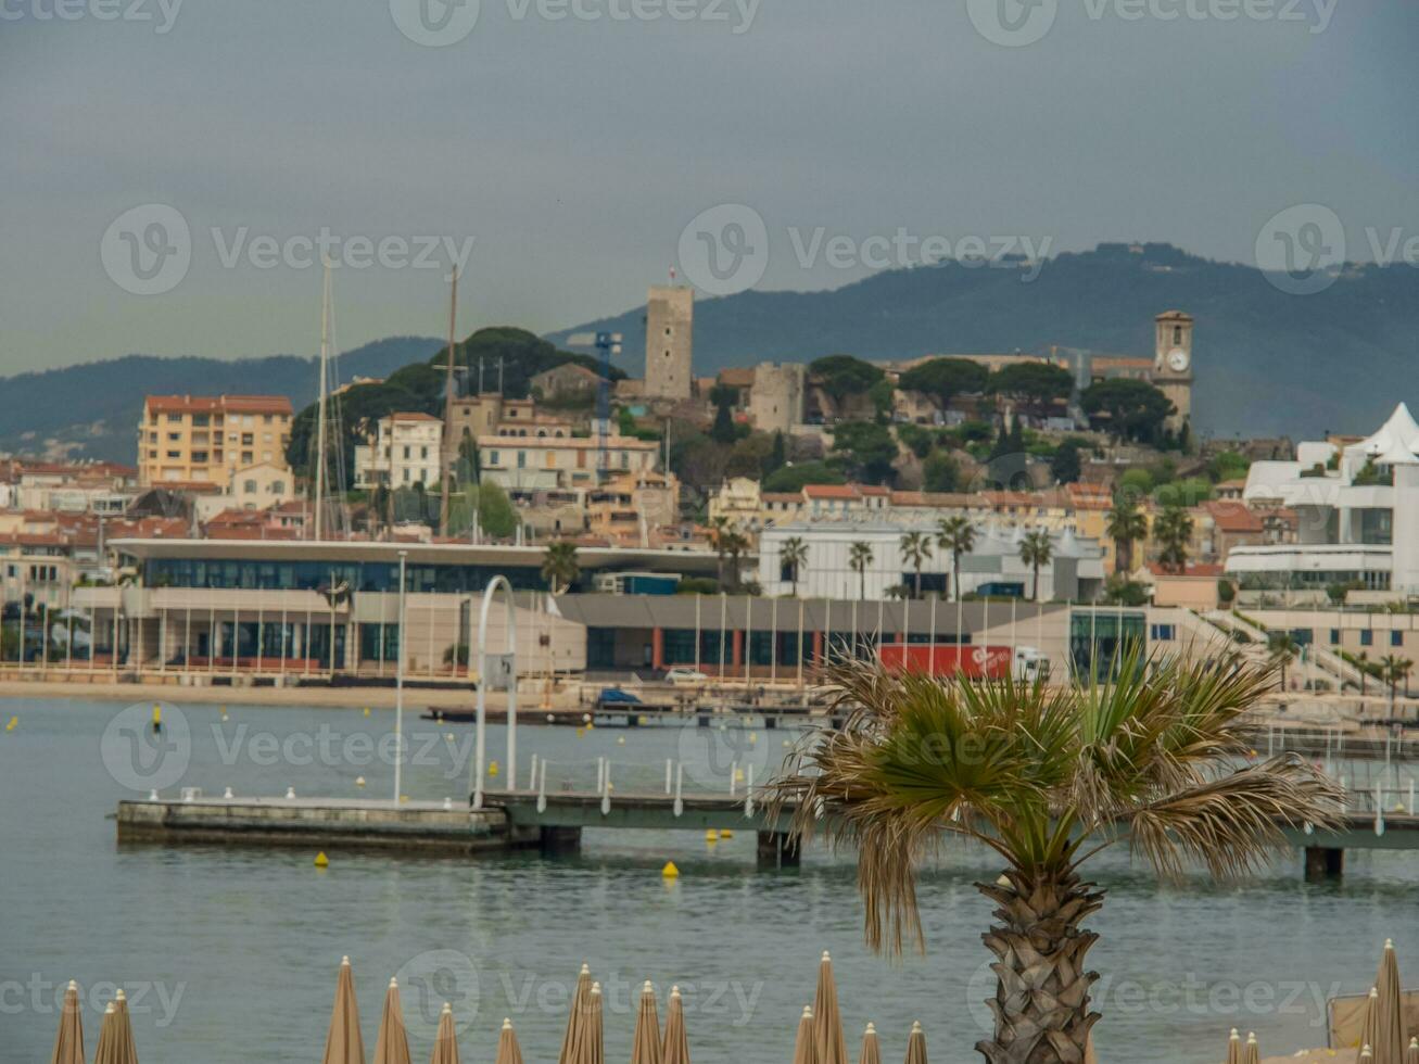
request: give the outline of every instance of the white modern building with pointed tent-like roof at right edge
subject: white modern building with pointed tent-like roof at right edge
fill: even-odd
[[[1227,553],[1243,589],[1419,594],[1419,423],[1403,403],[1358,443],[1303,443],[1296,461],[1253,464],[1243,499],[1288,506],[1298,519],[1296,543]]]

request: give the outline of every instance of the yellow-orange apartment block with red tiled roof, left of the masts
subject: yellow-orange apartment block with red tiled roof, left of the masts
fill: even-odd
[[[285,396],[148,396],[138,423],[138,481],[226,488],[240,468],[287,468],[292,416]]]

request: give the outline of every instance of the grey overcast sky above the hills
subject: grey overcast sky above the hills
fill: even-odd
[[[441,335],[467,238],[460,333],[637,305],[725,203],[769,289],[876,265],[816,230],[1252,262],[1317,203],[1351,258],[1419,234],[1419,4],[1030,1],[0,0],[0,375],[314,353],[322,230],[386,241],[331,248],[343,349]]]

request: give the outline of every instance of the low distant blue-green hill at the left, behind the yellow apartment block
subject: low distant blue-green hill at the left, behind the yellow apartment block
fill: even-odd
[[[441,340],[394,336],[341,355],[341,380],[385,377],[429,359]],[[57,454],[133,461],[133,433],[143,396],[263,393],[289,396],[299,410],[315,399],[315,358],[156,358],[128,355],[43,373],[0,379],[0,453]]]

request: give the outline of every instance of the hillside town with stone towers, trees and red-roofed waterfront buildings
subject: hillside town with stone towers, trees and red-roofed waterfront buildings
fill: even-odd
[[[1182,311],[1158,314],[1151,356],[830,355],[714,377],[694,376],[692,289],[653,288],[646,315],[640,377],[525,333],[517,343],[539,345],[529,365],[505,346],[474,355],[475,333],[410,367],[433,380],[417,409],[390,409],[416,394],[393,379],[333,387],[305,411],[282,396],[150,394],[131,467],[6,458],[0,661],[78,653],[115,668],[260,672],[292,660],[383,674],[385,604],[363,607],[380,611],[372,624],[271,624],[251,594],[319,593],[328,606],[342,586],[383,592],[396,555],[427,560],[413,590],[450,602],[498,562],[526,590],[734,596],[759,599],[761,616],[776,599],[908,613],[929,602],[932,620],[948,603],[993,603],[998,619],[1073,606],[1091,610],[1095,636],[1101,609],[1120,626],[1142,611],[1135,624],[1155,638],[1189,637],[1200,617],[1324,660],[1328,678],[1301,682],[1338,689],[1384,678],[1371,628],[1392,617],[1403,624],[1388,621],[1382,641],[1402,660],[1419,593],[1419,559],[1405,555],[1419,542],[1406,532],[1419,519],[1419,424],[1402,406],[1369,436],[1298,447],[1193,438],[1195,323]],[[619,340],[596,345],[609,356]],[[203,589],[207,617],[194,621],[183,587]],[[172,603],[139,609],[136,589]],[[1149,610],[1162,620],[1145,626]],[[140,636],[145,611],[153,627]],[[70,641],[75,619],[82,645]],[[583,627],[565,651],[572,671],[707,658],[721,674],[758,658],[776,671],[780,657],[755,658],[728,628],[714,648],[694,637],[675,654],[658,624],[599,637],[607,626],[592,610]],[[904,617],[895,634],[911,641],[911,627]],[[1067,633],[1037,636],[1070,668]],[[437,671],[464,637],[430,638],[424,665]],[[878,626],[874,638],[888,637]],[[806,643],[785,647],[785,660],[807,655]]]

